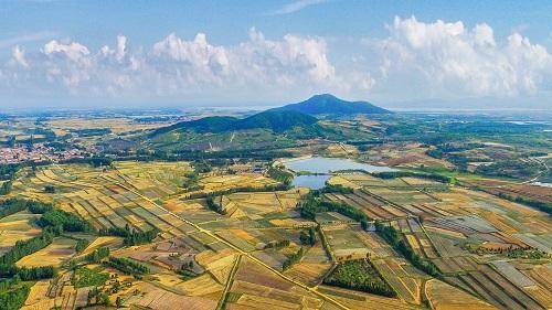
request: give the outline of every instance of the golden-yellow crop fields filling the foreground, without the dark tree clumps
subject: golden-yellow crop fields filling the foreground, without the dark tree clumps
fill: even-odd
[[[182,184],[193,171],[189,162],[116,161],[113,167],[24,169],[13,182],[12,195],[54,202],[96,229],[156,228],[159,236],[149,244],[126,246],[123,237],[74,234],[71,236],[91,242],[82,253],[75,254],[75,239],[59,237],[20,259],[18,266],[62,266],[70,258],[84,259],[109,247],[112,257],[129,258],[150,269],[136,279],[107,267],[117,279],[128,280],[128,286],[110,295],[112,303],[121,297],[127,306],[151,309],[177,309],[174,302],[194,309],[215,309],[221,302],[225,309],[297,309],[298,304],[374,309],[375,303],[378,309],[413,309],[423,307],[424,300],[435,309],[548,309],[552,304],[551,258],[546,256],[552,252],[552,224],[539,211],[488,193],[412,177],[379,179],[352,173],[330,179],[353,188],[352,192],[321,195],[389,223],[417,257],[436,266],[445,284],[414,267],[379,233],[363,231],[349,216],[332,211],[318,212],[315,220],[302,218],[298,206],[307,197],[305,189],[224,194],[222,214],[209,209],[205,193],[278,182],[257,173],[227,174],[223,169],[200,173],[194,182],[203,189],[188,192]],[[46,193],[46,185],[53,185],[55,192]],[[0,233],[6,236],[0,240],[1,250],[8,250],[15,239],[40,234],[31,223],[38,216],[19,212],[1,218]],[[325,243],[318,228],[318,240],[304,243],[300,233],[317,225]],[[302,256],[284,268],[300,248]],[[528,255],[540,258],[528,264],[532,261]],[[367,257],[396,298],[322,285],[337,264]],[[61,278],[55,285],[39,281],[26,309],[85,306],[91,288],[75,288],[74,276],[62,274]],[[109,279],[103,288],[112,286]]]

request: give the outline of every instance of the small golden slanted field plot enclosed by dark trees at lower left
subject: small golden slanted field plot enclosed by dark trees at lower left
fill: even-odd
[[[45,248],[21,258],[18,267],[60,266],[75,253],[76,240],[57,237]]]

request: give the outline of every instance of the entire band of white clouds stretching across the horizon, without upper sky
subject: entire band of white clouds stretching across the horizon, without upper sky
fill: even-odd
[[[551,53],[519,33],[498,38],[486,23],[414,17],[386,28],[386,38],[341,45],[339,54],[322,38],[268,39],[254,28],[234,45],[213,44],[204,33],[171,33],[144,47],[124,35],[98,50],[70,40],[33,50],[13,44],[0,64],[0,97],[276,101],[336,93],[399,101],[552,93]]]

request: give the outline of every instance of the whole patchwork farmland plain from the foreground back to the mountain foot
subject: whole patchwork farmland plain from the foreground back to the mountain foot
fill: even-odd
[[[150,139],[163,121],[40,122],[98,156],[24,163],[3,177],[11,188],[1,201],[66,212],[2,210],[2,272],[22,279],[4,291],[28,287],[23,309],[552,308],[551,188],[520,180],[527,171],[460,169],[459,157],[514,157],[516,148],[422,143],[401,131],[413,120],[399,119],[323,120],[325,139],[282,133],[282,150],[235,149],[232,132]],[[24,138],[32,124],[2,130]],[[385,128],[388,140],[342,139],[381,138]],[[251,147],[277,135],[233,139]],[[318,175],[283,164],[321,156],[392,170]],[[294,186],[294,174],[327,185]]]

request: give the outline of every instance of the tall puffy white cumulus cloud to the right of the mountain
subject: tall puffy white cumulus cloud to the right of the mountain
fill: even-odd
[[[512,97],[550,87],[552,55],[519,33],[497,43],[486,23],[468,29],[414,17],[396,17],[388,29],[389,38],[368,41],[381,57],[382,85],[425,97]]]

